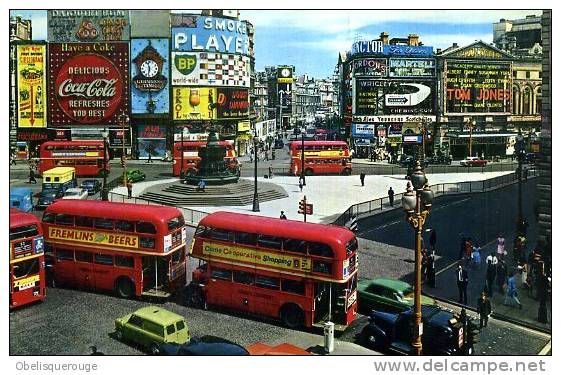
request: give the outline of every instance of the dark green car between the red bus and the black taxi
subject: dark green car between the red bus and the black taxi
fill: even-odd
[[[358,310],[370,314],[372,310],[381,312],[402,312],[414,305],[413,287],[394,279],[363,279],[358,281]],[[421,304],[436,305],[433,298],[421,296]]]

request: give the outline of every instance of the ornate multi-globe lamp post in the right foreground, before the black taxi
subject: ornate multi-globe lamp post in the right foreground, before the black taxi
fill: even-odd
[[[413,354],[423,353],[422,316],[421,316],[421,241],[423,225],[432,206],[434,193],[429,188],[427,177],[417,160],[411,181],[407,183],[407,191],[401,198],[401,205],[407,215],[407,221],[415,229],[415,312],[413,314]]]

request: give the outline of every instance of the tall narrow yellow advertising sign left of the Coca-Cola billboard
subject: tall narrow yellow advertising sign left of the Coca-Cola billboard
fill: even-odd
[[[17,120],[19,128],[47,127],[45,66],[47,46],[18,45],[17,50]]]

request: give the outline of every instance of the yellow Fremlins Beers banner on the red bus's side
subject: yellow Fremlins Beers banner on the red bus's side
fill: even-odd
[[[106,233],[93,230],[49,227],[49,239],[132,249],[138,248],[138,236],[123,233]]]

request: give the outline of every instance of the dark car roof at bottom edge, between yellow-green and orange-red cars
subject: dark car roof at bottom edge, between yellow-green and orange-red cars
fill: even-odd
[[[215,337],[192,337],[187,343],[161,344],[161,355],[249,355],[243,347],[232,341]]]

